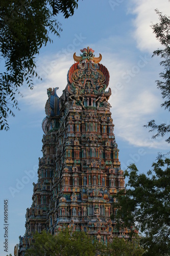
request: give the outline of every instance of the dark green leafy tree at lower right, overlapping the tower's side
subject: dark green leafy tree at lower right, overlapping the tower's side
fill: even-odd
[[[125,189],[115,196],[113,207],[119,225],[143,233],[145,255],[170,254],[170,159],[158,159],[147,175],[139,174],[135,164],[128,167]],[[123,221],[122,221],[123,220]],[[133,227],[133,228],[132,228]]]

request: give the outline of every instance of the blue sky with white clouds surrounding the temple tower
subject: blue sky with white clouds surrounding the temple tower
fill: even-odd
[[[110,73],[109,99],[114,134],[123,170],[135,163],[140,173],[152,169],[158,152],[169,151],[165,138],[152,139],[144,128],[151,119],[169,124],[168,112],[160,108],[163,99],[156,88],[159,79],[161,48],[152,32],[158,22],[154,11],[170,16],[168,0],[79,0],[78,9],[68,19],[58,16],[62,24],[60,38],[42,47],[36,57],[37,72],[31,91],[23,86],[19,97],[20,111],[9,117],[10,130],[0,132],[0,255],[4,252],[4,200],[8,200],[8,254],[25,234],[26,209],[31,207],[33,182],[37,182],[38,158],[42,157],[41,122],[45,117],[46,89],[59,87],[58,96],[67,84],[67,72],[80,49],[89,46],[95,57]],[[3,61],[0,69],[3,70]]]

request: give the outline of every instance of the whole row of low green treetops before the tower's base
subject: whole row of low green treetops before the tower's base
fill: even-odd
[[[143,253],[143,248],[139,247],[137,240],[130,242],[120,238],[113,238],[113,242],[106,246],[83,231],[70,233],[67,228],[61,230],[57,236],[45,231],[42,231],[41,234],[36,232],[31,246],[26,251],[26,256],[140,256]]]

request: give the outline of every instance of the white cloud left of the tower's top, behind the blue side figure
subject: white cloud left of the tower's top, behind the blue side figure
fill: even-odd
[[[23,89],[23,100],[35,111],[44,110],[46,100],[48,99],[47,88],[59,87],[58,96],[62,95],[62,91],[67,85],[67,72],[69,67],[74,63],[71,58],[62,61],[55,55],[48,55],[39,58],[37,73],[42,78],[35,83],[34,89],[30,91],[28,88]]]

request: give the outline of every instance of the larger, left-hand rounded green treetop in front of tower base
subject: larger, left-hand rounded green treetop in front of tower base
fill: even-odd
[[[91,240],[84,232],[74,232],[70,236],[69,230],[61,231],[58,236],[42,231],[34,235],[35,242],[32,248],[28,249],[27,255],[95,255]]]

